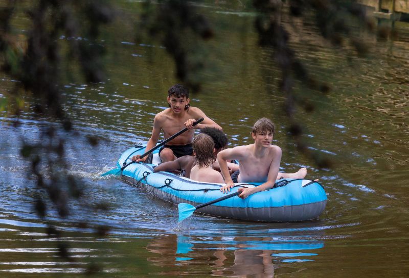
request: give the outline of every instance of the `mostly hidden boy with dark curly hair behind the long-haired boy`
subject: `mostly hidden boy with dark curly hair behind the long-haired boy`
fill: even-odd
[[[215,128],[204,128],[200,130],[200,133],[207,134],[210,137],[212,137],[213,142],[214,142],[214,153],[213,155],[216,157],[216,155],[219,153],[220,150],[222,150],[228,143],[228,138],[227,136],[218,129]],[[174,171],[178,169],[185,170],[184,176],[186,178],[190,178],[190,171],[192,167],[196,164],[195,158],[192,156],[183,156],[179,157],[176,160],[173,161],[168,161],[165,163],[161,163],[157,165],[153,171],[158,172],[158,171]],[[234,172],[239,169],[238,164],[234,163],[228,163],[229,167],[229,172]],[[217,161],[213,164],[213,169],[215,170],[220,170]]]

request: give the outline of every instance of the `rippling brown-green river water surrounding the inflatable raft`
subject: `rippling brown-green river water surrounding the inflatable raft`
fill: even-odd
[[[270,50],[257,46],[254,14],[222,5],[198,7],[209,16],[215,37],[205,43],[202,91],[191,93],[191,104],[222,126],[230,146],[251,143],[253,123],[271,118],[278,129],[274,144],[283,150],[281,169],[307,167],[307,178],[320,179],[328,203],[314,221],[262,223],[194,214],[178,225],[176,206],[100,176],[115,167],[124,150],[148,140],[155,113],[167,107],[167,89],[177,83],[160,43],[134,43],[132,12],[140,4],[122,5],[106,35],[109,80],[64,84],[65,108],[76,131],[66,134],[66,157],[86,192],[72,202],[67,218],[56,217],[53,209],[46,219],[36,216],[35,180],[19,151],[21,139],[40,140],[41,128],[53,123],[34,117],[30,98],[18,118],[0,112],[1,277],[74,277],[93,270],[109,277],[409,276],[407,24],[397,24],[393,41],[367,35],[372,45],[367,58],[332,48],[314,37],[311,26],[311,32],[292,30],[299,34],[291,41],[298,57],[331,87],[328,95],[301,84],[294,89],[315,107],[297,110],[303,138],[332,161],[330,169],[319,169],[287,134],[280,74]],[[15,82],[2,75],[0,99]],[[89,135],[100,139],[97,146],[87,143]],[[108,211],[93,209],[101,201]],[[101,236],[78,222],[110,229]],[[47,235],[47,223],[59,237]],[[58,256],[61,244],[71,259]]]

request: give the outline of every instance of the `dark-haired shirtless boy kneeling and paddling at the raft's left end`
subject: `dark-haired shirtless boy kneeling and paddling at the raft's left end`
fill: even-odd
[[[192,141],[194,129],[213,127],[221,130],[221,127],[216,122],[207,117],[199,108],[191,107],[189,102],[189,90],[179,84],[173,85],[168,91],[169,108],[157,113],[153,119],[152,136],[146,145],[146,149],[148,150],[156,146],[161,131],[163,131],[164,137],[167,139],[181,129],[189,129],[160,148],[159,155],[162,162],[193,154]],[[205,120],[193,127],[193,123],[196,119],[200,118],[204,118]],[[141,159],[140,155],[137,155],[133,156],[132,160],[135,162],[143,162],[146,158],[147,157]]]

